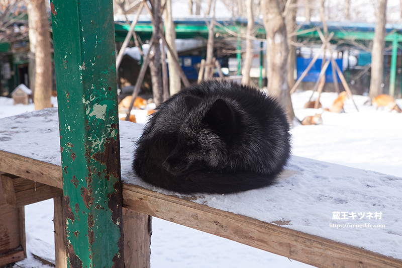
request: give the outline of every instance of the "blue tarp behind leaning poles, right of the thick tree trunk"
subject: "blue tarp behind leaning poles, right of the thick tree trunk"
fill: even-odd
[[[297,58],[297,79],[302,75],[302,73],[306,70],[307,66],[310,64],[312,61],[312,58],[302,58],[298,57]],[[320,75],[321,71],[321,64],[322,64],[322,59],[317,59],[317,61],[314,63],[314,65],[311,67],[310,71],[307,73],[305,78],[303,78],[303,82],[316,82],[318,79],[318,76]],[[336,59],[336,63],[338,64],[339,68],[342,70],[342,59]],[[336,74],[338,82],[341,82],[341,79],[339,78],[338,74]],[[332,78],[332,63],[328,66],[326,72],[325,72],[325,80],[326,82],[333,83],[334,80]]]

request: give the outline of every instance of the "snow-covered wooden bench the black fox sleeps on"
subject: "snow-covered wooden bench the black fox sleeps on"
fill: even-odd
[[[141,248],[138,254],[145,262],[149,261],[146,237],[147,215],[150,215],[318,267],[402,267],[402,204],[400,195],[394,194],[397,191],[389,191],[396,188],[400,193],[401,178],[293,157],[279,183],[268,188],[235,195],[178,195],[152,187],[133,174],[133,146],[141,129],[141,125],[130,122],[120,124],[123,204],[128,209],[125,213],[135,211],[143,217],[138,221],[135,215],[125,214],[125,240],[141,244],[136,247]],[[28,185],[27,179],[47,189],[44,198],[59,198],[57,206],[62,209],[58,190],[62,189],[58,133],[56,108],[0,119],[0,171],[14,175],[3,180],[8,180],[3,185],[5,191],[9,195],[16,193],[10,199],[14,205],[37,201],[35,191],[21,187]],[[350,193],[356,184],[362,185],[360,191]],[[21,191],[31,194],[19,194]],[[396,203],[381,204],[385,198],[381,195],[385,193],[387,201]],[[360,208],[366,208],[361,212],[377,210],[382,218],[333,219],[336,210],[352,213],[351,210]],[[136,222],[142,223],[142,232],[134,231],[138,228],[133,227]],[[348,223],[385,227],[330,227]],[[65,254],[62,223],[55,228],[60,235],[56,237],[56,258],[59,251],[62,259]],[[136,237],[141,233],[141,238]],[[368,236],[381,239],[373,241]],[[133,249],[125,248],[126,263],[134,254],[137,253]],[[131,267],[135,267],[133,263]]]

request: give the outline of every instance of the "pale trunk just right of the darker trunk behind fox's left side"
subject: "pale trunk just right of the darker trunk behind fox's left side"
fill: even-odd
[[[165,24],[165,39],[174,55],[167,52],[167,64],[169,68],[169,92],[170,96],[176,94],[181,89],[180,74],[176,65],[174,63],[173,57],[178,59],[178,54],[176,50],[176,44],[174,40],[176,39],[175,25],[172,20],[172,1],[166,0],[166,8],[164,10],[164,24]]]

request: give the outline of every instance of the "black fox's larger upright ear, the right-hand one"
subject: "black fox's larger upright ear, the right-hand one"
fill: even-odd
[[[222,99],[218,99],[204,117],[214,131],[223,136],[230,136],[235,128],[235,113]]]

